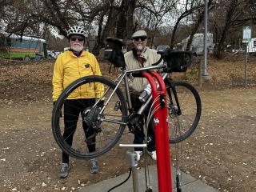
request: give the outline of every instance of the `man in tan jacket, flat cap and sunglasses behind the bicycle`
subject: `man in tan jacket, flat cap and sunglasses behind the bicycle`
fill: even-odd
[[[132,35],[133,40],[133,50],[127,52],[125,57],[125,62],[128,70],[138,69],[146,66],[151,66],[155,62],[161,58],[160,54],[157,54],[156,50],[149,49],[146,47],[147,44],[147,34],[145,30],[138,30]],[[135,111],[138,111],[142,106],[142,102],[138,99],[139,95],[142,94],[142,91],[146,88],[148,84],[146,78],[132,78],[130,79],[130,90],[131,90],[131,102]],[[145,111],[145,119],[146,115],[149,114],[149,109]],[[155,140],[154,140],[154,124],[153,119],[150,120],[150,125],[148,128],[148,143],[147,143],[147,154],[154,160],[157,159],[157,154],[155,151]],[[143,128],[142,128],[143,130]],[[141,144],[143,139],[138,134],[134,134],[134,144]],[[138,160],[142,156],[142,148],[134,149]]]

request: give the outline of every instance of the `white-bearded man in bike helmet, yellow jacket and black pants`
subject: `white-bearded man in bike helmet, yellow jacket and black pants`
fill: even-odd
[[[73,26],[67,31],[67,38],[70,43],[70,50],[58,55],[54,63],[53,74],[53,100],[58,99],[62,94],[62,90],[66,88],[71,82],[78,78],[87,75],[102,75],[98,66],[98,61],[94,54],[83,50],[86,38],[86,32],[79,26]],[[81,88],[74,90],[64,103],[64,134],[63,138],[71,146],[73,142],[74,131],[77,127],[79,114],[87,107],[93,106],[95,98],[101,95],[95,93],[102,93],[104,87],[100,84],[85,85]],[[85,131],[86,138],[92,134],[92,129],[83,122],[83,130]],[[95,143],[93,141],[93,143]],[[90,152],[95,151],[95,144],[87,145]],[[62,151],[62,167],[58,175],[60,178],[66,178],[68,175],[69,155]],[[92,174],[98,173],[98,162],[96,159],[90,159],[90,172]]]

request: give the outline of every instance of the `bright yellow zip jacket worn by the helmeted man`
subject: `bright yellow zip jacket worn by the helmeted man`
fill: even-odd
[[[88,75],[102,75],[94,54],[83,50],[80,57],[74,55],[72,51],[58,55],[54,63],[53,100],[56,101],[62,90],[71,82]],[[87,83],[74,90],[68,99],[100,98],[103,91],[104,86],[101,83]]]

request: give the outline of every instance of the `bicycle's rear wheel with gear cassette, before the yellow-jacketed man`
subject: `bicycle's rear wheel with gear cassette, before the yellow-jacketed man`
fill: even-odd
[[[72,106],[72,102],[70,103],[70,97],[72,95],[82,95],[80,93],[81,89],[85,87],[90,89],[96,84],[100,84],[102,87],[104,86],[104,95],[102,98],[96,98],[96,103],[93,103],[91,106],[83,106],[83,102]],[[127,106],[122,91],[119,88],[114,91],[115,87],[116,84],[110,79],[94,75],[79,78],[77,81],[72,82],[59,96],[52,114],[52,130],[58,146],[71,157],[84,159],[97,158],[113,148],[121,138],[126,126]],[[97,91],[94,91],[95,95],[98,95]],[[103,92],[101,91],[101,94]],[[104,101],[104,104],[98,102],[100,100]],[[103,105],[99,105],[100,103]],[[71,107],[71,109],[73,107],[74,110],[82,111],[74,117],[74,119],[78,119],[76,128],[72,128],[71,126],[65,127],[65,123],[68,125],[71,122],[67,122],[67,117],[74,115],[67,114],[64,111],[65,105],[69,105],[68,107]],[[76,108],[78,106],[81,106],[80,109]],[[64,114],[64,118],[61,118],[60,114]],[[64,123],[65,117],[66,122]],[[84,127],[86,127],[85,130],[83,129]],[[71,131],[67,131],[68,129],[71,129]],[[70,134],[63,136],[64,130]],[[86,137],[89,131],[90,135]],[[67,140],[72,135],[73,143],[69,145]],[[95,151],[89,151],[88,145],[95,145]]]

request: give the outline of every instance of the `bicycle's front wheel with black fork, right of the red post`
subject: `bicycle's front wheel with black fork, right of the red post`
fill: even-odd
[[[198,91],[188,82],[166,80],[170,143],[182,142],[198,126],[202,103]]]

